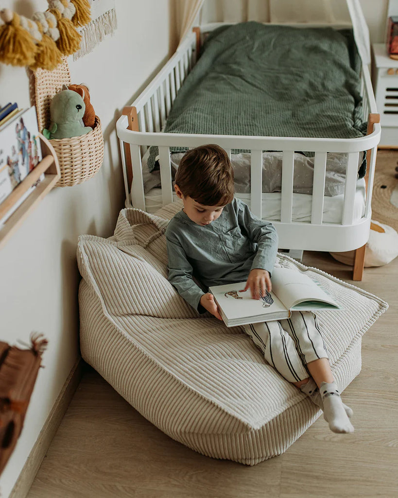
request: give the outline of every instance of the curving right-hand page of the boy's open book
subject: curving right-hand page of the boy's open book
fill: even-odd
[[[290,268],[274,268],[272,271],[272,290],[285,304],[292,309],[299,303],[300,310],[315,310],[330,307],[341,309],[339,303],[327,294],[310,277]],[[304,303],[304,301],[308,301]],[[297,308],[298,309],[298,308]]]

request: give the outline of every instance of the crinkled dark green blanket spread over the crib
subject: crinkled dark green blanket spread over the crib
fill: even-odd
[[[366,127],[361,121],[359,70],[352,30],[257,22],[222,26],[207,37],[164,131],[363,136]],[[150,170],[155,167],[157,153],[157,147],[151,147]]]

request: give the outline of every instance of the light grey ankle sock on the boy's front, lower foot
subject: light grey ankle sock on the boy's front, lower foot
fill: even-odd
[[[350,419],[344,409],[336,382],[322,382],[319,388],[323,402],[323,417],[332,432],[354,432]]]

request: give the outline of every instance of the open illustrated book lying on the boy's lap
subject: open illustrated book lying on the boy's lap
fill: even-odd
[[[210,287],[227,327],[290,318],[292,311],[342,310],[320,284],[290,268],[274,268],[272,292],[252,299],[246,282]]]

